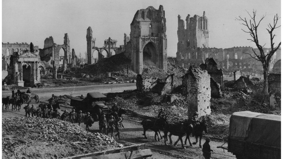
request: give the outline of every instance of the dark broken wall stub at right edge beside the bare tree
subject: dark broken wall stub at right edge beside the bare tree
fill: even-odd
[[[269,105],[275,110],[281,110],[281,74],[269,74]]]

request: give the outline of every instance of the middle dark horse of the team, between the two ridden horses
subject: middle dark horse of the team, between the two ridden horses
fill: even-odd
[[[187,132],[187,125],[184,125],[184,123],[177,123],[177,124],[167,123],[164,126],[164,143],[165,143],[165,145],[167,145],[166,137],[167,137],[168,132],[170,132],[170,134],[169,134],[170,144],[172,144],[171,136],[172,135],[178,136],[179,139],[177,141],[181,140],[182,148],[186,149],[186,147],[184,147],[184,145],[183,145],[182,137],[185,136],[185,134]],[[175,146],[177,144],[177,141],[174,143]]]

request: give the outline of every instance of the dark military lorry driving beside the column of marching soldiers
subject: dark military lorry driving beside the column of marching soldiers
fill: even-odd
[[[86,98],[72,98],[70,106],[77,109],[77,111],[81,110],[82,112],[89,112],[94,115],[98,112],[99,109],[102,110],[102,113],[108,115],[110,109],[105,105],[106,96],[101,94],[100,92],[92,92],[86,95]]]

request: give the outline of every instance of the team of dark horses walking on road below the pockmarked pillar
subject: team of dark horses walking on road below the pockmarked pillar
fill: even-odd
[[[202,147],[202,145],[201,145],[201,140],[202,140],[202,135],[203,135],[202,133],[203,133],[203,131],[205,133],[207,133],[207,124],[206,124],[205,120],[203,120],[200,123],[197,123],[194,126],[194,124],[192,124],[191,121],[189,121],[189,120],[186,120],[184,122],[179,122],[179,123],[168,122],[167,116],[165,116],[165,115],[162,115],[160,118],[158,118],[154,121],[148,120],[148,119],[143,120],[141,122],[141,125],[144,128],[144,134],[143,135],[146,139],[147,139],[146,131],[148,129],[153,130],[155,132],[154,138],[155,138],[156,141],[157,141],[156,136],[158,138],[158,141],[160,141],[158,134],[160,135],[161,139],[162,139],[162,137],[164,137],[165,145],[167,145],[166,141],[168,141],[167,136],[169,136],[170,144],[172,144],[171,136],[172,135],[178,136],[178,140],[174,143],[174,145],[176,146],[177,142],[180,140],[183,149],[186,149],[186,147],[184,147],[184,144],[186,145],[187,140],[189,141],[190,146],[192,146],[192,143],[191,143],[190,137],[189,137],[191,134],[193,136],[195,136],[195,139],[196,139],[196,142],[193,142],[193,145],[197,144],[198,138],[199,138],[199,147]],[[161,136],[160,130],[164,132],[164,136]],[[170,133],[170,134],[168,135],[168,133]],[[183,144],[182,137],[185,136],[185,135],[186,135],[186,139],[185,139],[185,143]]]

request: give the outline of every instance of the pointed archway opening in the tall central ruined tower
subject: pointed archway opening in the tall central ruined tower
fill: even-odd
[[[157,49],[155,45],[151,42],[147,43],[143,48],[143,63],[144,65],[156,65],[157,63]]]

